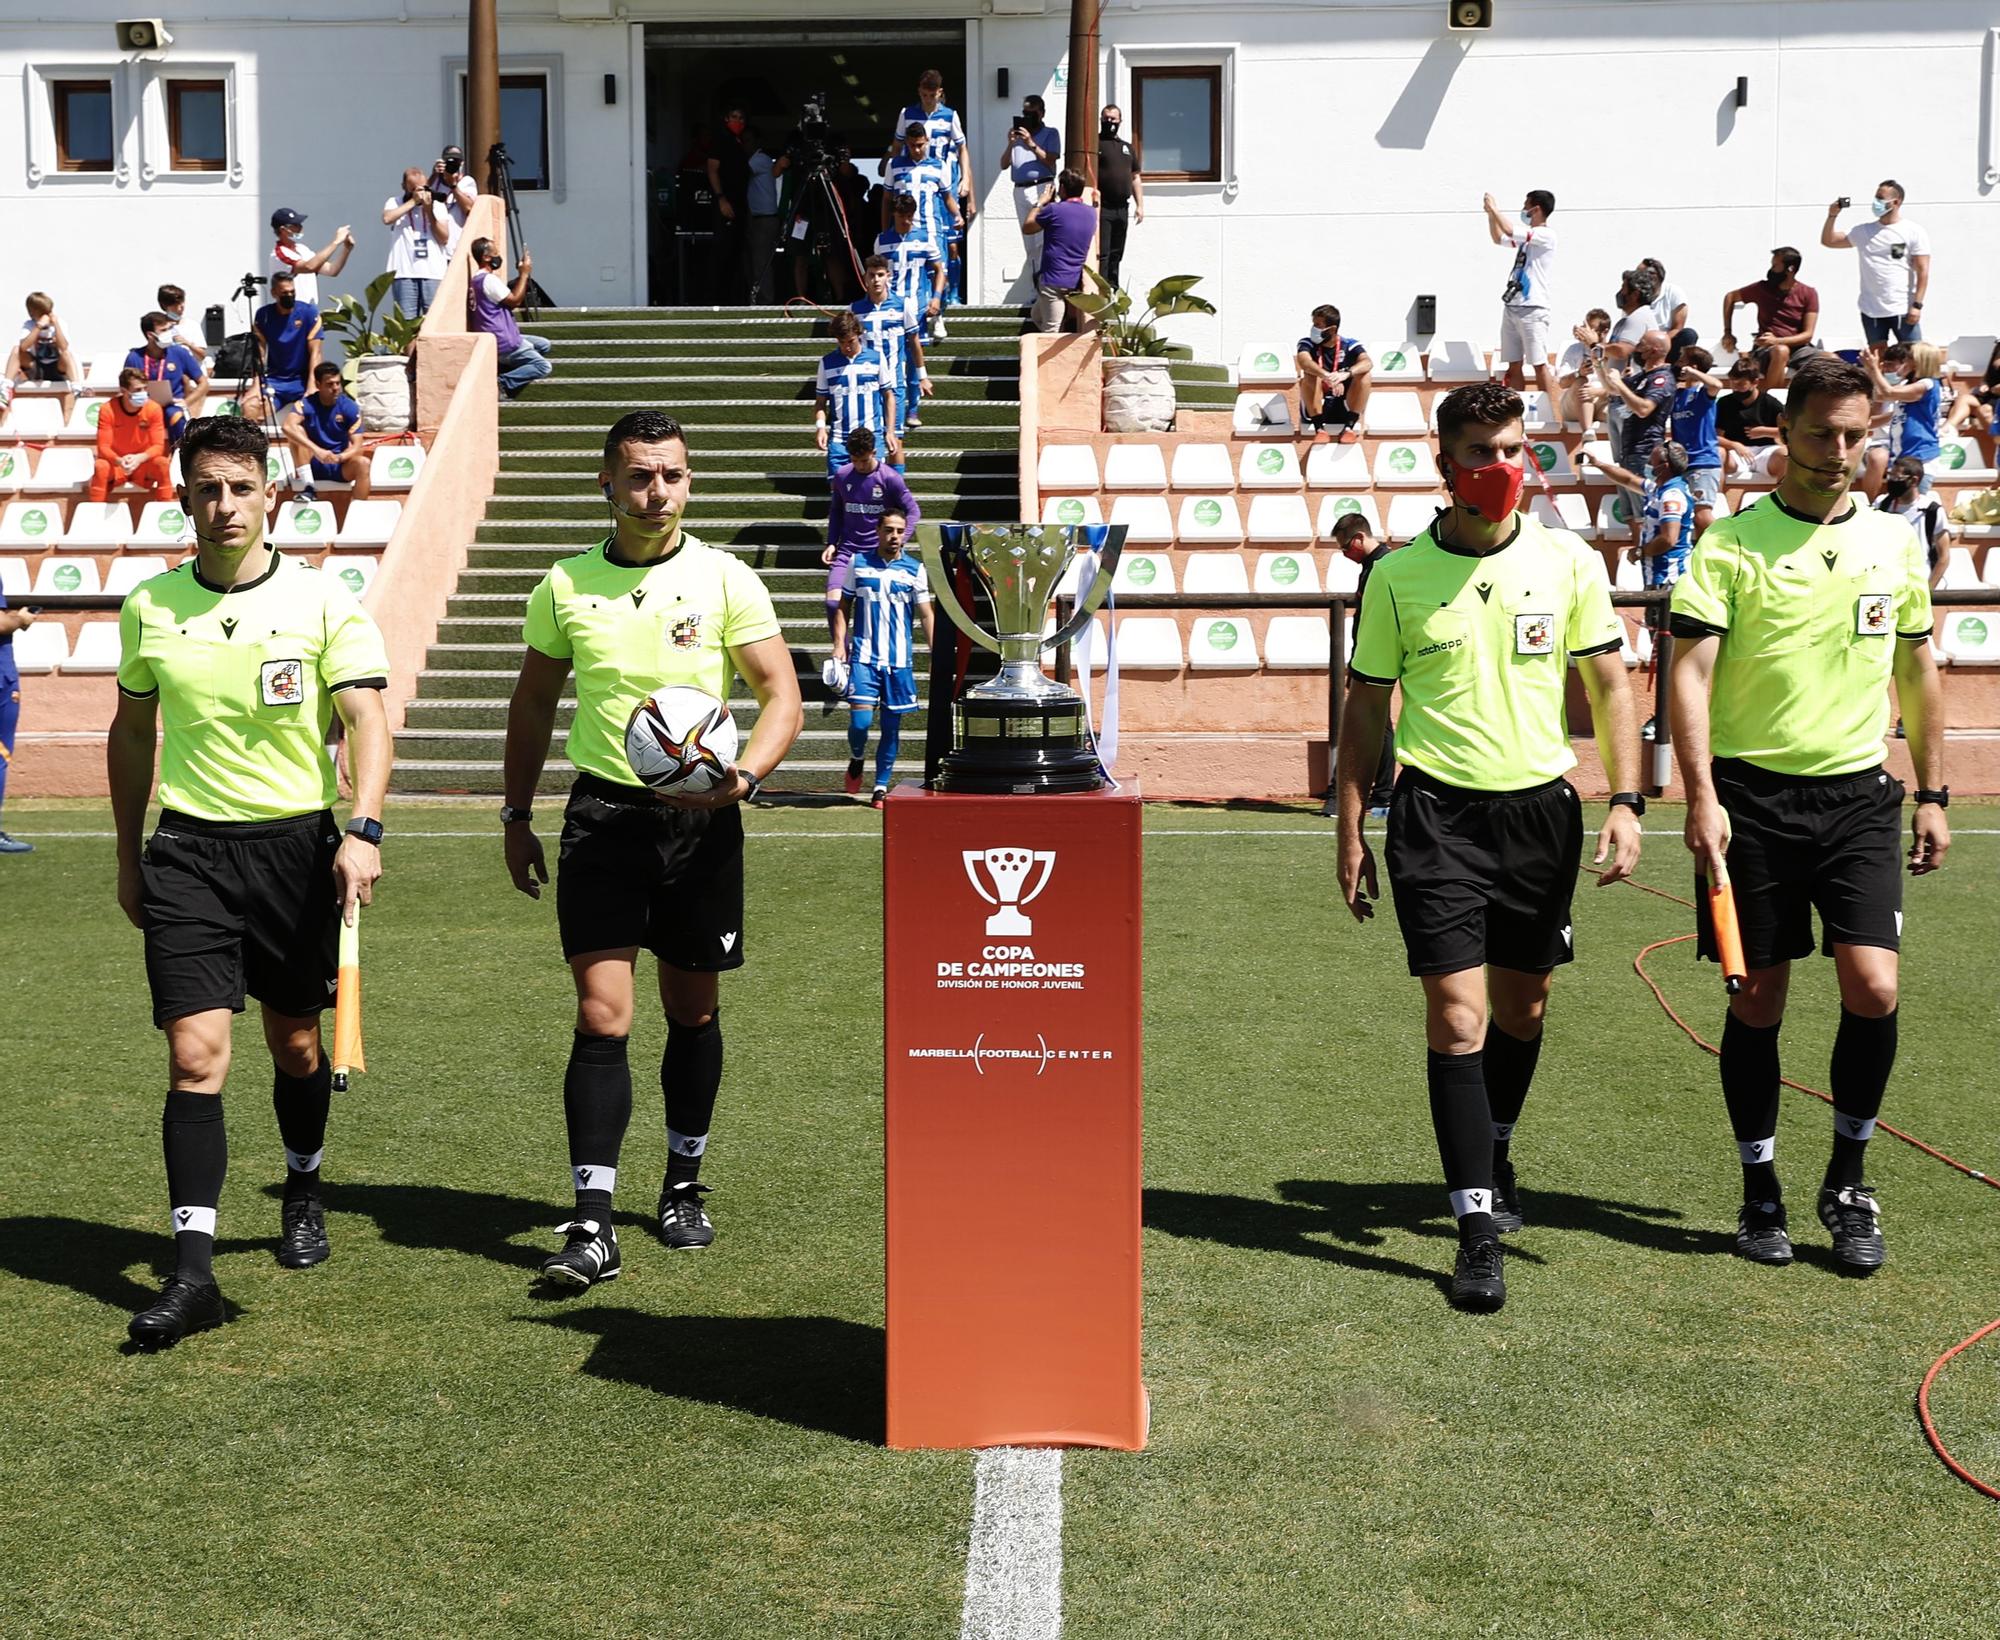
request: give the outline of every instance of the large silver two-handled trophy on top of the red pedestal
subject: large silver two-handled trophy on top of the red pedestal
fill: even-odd
[[[974,644],[1000,656],[1000,670],[952,706],[952,750],[938,764],[940,792],[1094,792],[1104,784],[1084,724],[1084,700],[1042,670],[1042,652],[1070,642],[1112,590],[1124,524],[924,524],[918,552],[930,590]],[[1044,632],[1048,606],[1070,566],[1098,554],[1078,588],[1076,610]],[[986,590],[996,632],[960,602],[954,572],[968,568]]]

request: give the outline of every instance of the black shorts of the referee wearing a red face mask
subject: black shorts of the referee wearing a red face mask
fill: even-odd
[[[1470,792],[1404,766],[1388,806],[1388,882],[1412,974],[1494,964],[1546,974],[1574,956],[1584,810],[1568,780]]]

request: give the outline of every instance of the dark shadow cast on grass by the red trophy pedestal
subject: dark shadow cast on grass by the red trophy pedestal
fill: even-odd
[[[604,1304],[518,1320],[594,1336],[584,1362],[592,1378],[882,1444],[878,1326],[836,1316],[650,1316]]]

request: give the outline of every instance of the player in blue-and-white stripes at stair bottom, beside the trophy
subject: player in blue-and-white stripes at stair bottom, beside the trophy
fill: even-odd
[[[868,730],[874,728],[876,708],[882,710],[870,798],[876,808],[888,796],[888,776],[902,750],[902,714],[916,706],[916,614],[924,618],[924,646],[930,648],[932,640],[930,582],[924,566],[902,550],[908,532],[910,520],[902,508],[882,508],[876,544],[848,562],[840,614],[834,618],[834,654],[844,654],[848,664],[850,794],[862,788]]]

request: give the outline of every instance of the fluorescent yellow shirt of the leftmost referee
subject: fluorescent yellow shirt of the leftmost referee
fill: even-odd
[[[338,576],[272,554],[244,586],[190,558],[118,612],[118,688],[160,698],[160,802],[202,820],[332,808],[334,692],[388,684],[382,632]]]

